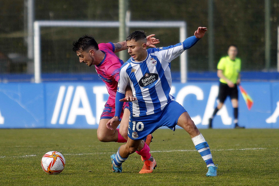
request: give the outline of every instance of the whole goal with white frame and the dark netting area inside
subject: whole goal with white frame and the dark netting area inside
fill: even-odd
[[[173,45],[186,39],[184,21],[129,21],[126,26],[128,29],[144,30],[148,35],[156,34],[160,44],[164,44],[162,46]],[[72,42],[84,34],[93,35],[98,43],[120,42],[117,39],[118,28],[118,21],[35,21],[35,82],[41,82],[42,72],[95,73],[86,65],[78,63],[78,58],[72,51]],[[169,37],[173,38],[172,43],[162,42],[163,38]],[[174,66],[180,71],[180,80],[184,83],[187,81],[187,51],[180,55],[176,64]]]

